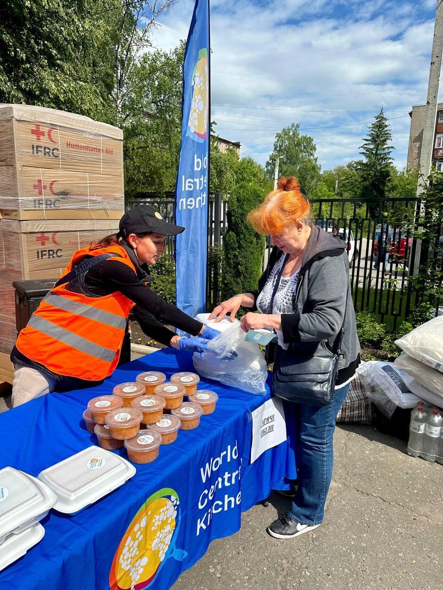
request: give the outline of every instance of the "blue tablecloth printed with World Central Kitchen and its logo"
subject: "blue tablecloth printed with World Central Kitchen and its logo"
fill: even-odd
[[[192,371],[192,358],[164,349],[119,367],[94,388],[50,394],[1,414],[0,468],[37,476],[96,444],[82,420],[89,399],[149,370]],[[131,480],[92,506],[74,516],[51,510],[43,540],[0,572],[2,590],[166,590],[211,540],[240,529],[243,510],[272,488],[284,489],[285,477],[295,478],[289,439],[249,464],[251,412],[269,399],[269,388],[261,397],[211,381],[198,387],[219,394],[216,411],[196,430],[179,431],[154,463],[136,466]],[[126,457],[124,448],[115,452]]]

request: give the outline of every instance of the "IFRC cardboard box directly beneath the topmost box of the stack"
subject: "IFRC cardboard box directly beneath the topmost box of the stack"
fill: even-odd
[[[0,167],[0,209],[9,219],[120,219],[125,208],[123,173],[89,174],[25,166]],[[70,210],[70,213],[63,211]],[[27,211],[27,212],[24,212]],[[66,217],[69,215],[69,217]]]

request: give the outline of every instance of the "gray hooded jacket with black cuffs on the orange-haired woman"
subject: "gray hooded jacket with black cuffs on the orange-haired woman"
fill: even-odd
[[[294,349],[305,349],[307,353],[317,348],[321,340],[325,340],[333,350],[343,325],[343,356],[338,363],[338,385],[351,378],[360,363],[360,343],[345,248],[343,240],[317,226],[312,228],[300,268],[294,312],[282,314],[284,342],[293,345]],[[255,301],[281,256],[284,253],[274,247],[268,267],[260,277],[259,288],[253,291]]]

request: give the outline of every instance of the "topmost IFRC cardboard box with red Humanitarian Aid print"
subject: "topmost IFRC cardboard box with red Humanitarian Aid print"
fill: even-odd
[[[119,176],[123,133],[89,117],[44,107],[0,107],[0,166]]]

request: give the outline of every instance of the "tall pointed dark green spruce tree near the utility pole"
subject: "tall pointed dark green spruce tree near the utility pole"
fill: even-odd
[[[392,134],[383,109],[370,125],[367,135],[363,138],[363,145],[360,146],[360,154],[364,158],[360,166],[361,197],[369,202],[371,217],[376,217],[379,212],[379,202],[373,199],[386,198],[393,162],[391,152],[395,149],[394,146],[389,145]]]

